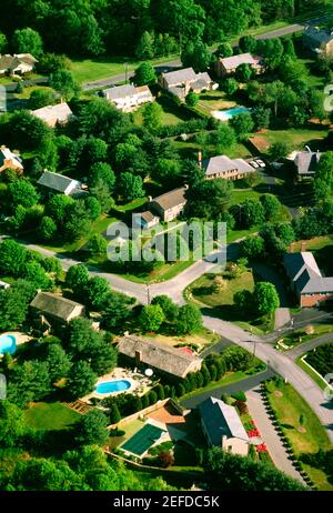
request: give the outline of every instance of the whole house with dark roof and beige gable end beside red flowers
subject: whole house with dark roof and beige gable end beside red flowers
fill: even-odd
[[[248,455],[249,436],[234,406],[211,396],[199,404],[198,409],[209,446]]]

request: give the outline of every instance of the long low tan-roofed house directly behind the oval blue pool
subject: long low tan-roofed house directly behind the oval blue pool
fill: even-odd
[[[137,368],[150,368],[171,379],[186,378],[190,372],[200,371],[202,364],[198,356],[137,335],[120,339],[118,352]]]

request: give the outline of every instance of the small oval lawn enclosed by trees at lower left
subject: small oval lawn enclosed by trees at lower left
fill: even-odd
[[[24,411],[24,416],[30,428],[46,431],[72,428],[82,418],[61,403],[36,403]]]

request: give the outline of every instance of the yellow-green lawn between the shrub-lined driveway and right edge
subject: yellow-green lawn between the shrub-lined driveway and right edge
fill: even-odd
[[[274,383],[270,383],[269,386],[272,408],[276,412],[296,455],[313,454],[320,449],[332,449],[324,426],[309,404],[290,384],[282,384],[279,390]],[[305,432],[300,431],[301,414],[304,414],[306,419]],[[323,472],[310,465],[306,465],[306,472],[320,490],[333,490],[333,485],[327,482]]]

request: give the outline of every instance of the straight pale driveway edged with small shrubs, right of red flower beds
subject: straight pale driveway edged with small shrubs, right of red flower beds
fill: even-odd
[[[268,414],[266,408],[262,400],[262,394],[258,388],[250,390],[246,393],[248,398],[248,408],[252,419],[255,422],[256,428],[259,429],[264,443],[268,446],[269,453],[278,469],[284,472],[286,475],[301,481],[301,483],[306,486],[304,480],[299,474],[299,472],[293,466],[291,460],[289,459],[287,452],[283,446],[283,443],[272,424],[272,421]]]

